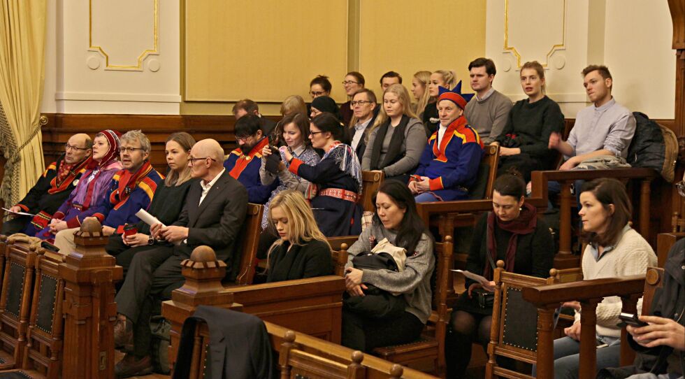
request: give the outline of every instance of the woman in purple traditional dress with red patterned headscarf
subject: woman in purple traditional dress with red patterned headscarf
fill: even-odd
[[[94,214],[97,206],[108,201],[112,177],[123,168],[118,160],[120,136],[118,131],[109,129],[96,134],[88,170],[83,173],[69,198],[52,216],[48,227],[38,231],[36,237],[52,241],[58,231],[78,227],[85,217]]]

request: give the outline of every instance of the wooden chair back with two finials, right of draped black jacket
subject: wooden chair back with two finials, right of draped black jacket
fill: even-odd
[[[287,331],[280,346],[278,365],[281,378],[310,379],[359,379],[366,378],[366,368],[361,366],[364,355],[352,352],[349,364],[336,362],[320,355],[300,350],[295,345],[295,332]]]

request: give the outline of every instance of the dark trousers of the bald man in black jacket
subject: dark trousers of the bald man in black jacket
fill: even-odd
[[[181,287],[181,262],[187,254],[178,246],[161,246],[140,251],[131,259],[124,285],[117,293],[117,312],[134,323],[134,355],[150,354],[150,317],[154,304],[171,298],[171,291]]]

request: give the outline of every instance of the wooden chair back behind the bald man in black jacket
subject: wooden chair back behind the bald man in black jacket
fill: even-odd
[[[254,270],[257,267],[257,246],[261,233],[261,218],[264,214],[264,206],[261,204],[247,203],[247,214],[243,225],[243,246],[240,249],[240,268],[236,275],[237,285],[250,285],[254,279]]]

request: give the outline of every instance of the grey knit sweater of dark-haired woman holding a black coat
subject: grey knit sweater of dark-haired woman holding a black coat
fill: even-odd
[[[352,267],[352,258],[361,253],[370,252],[376,243],[388,238],[395,244],[397,234],[385,229],[382,224],[373,222],[361,232],[359,239],[347,250],[347,264]],[[405,270],[402,272],[381,270],[363,270],[362,283],[369,283],[387,292],[398,292],[405,296],[405,310],[416,316],[424,324],[431,315],[431,273],[435,267],[433,240],[428,235],[421,236],[421,241],[414,252],[407,252]]]

